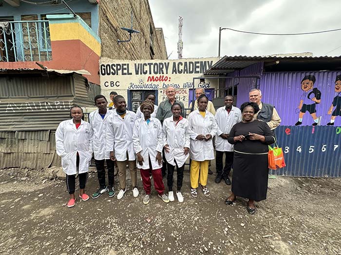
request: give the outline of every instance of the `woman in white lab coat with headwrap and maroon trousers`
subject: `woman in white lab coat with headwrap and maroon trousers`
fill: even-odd
[[[165,187],[162,181],[162,148],[163,136],[160,120],[151,117],[154,105],[145,101],[141,104],[141,111],[144,118],[135,121],[133,130],[133,144],[137,157],[137,168],[140,169],[143,188],[146,195],[143,204],[148,204],[151,195],[151,179],[149,170],[152,170],[154,186],[158,196],[165,202],[170,202],[164,194]]]

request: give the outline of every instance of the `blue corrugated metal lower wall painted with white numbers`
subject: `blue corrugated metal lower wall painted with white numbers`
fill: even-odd
[[[341,127],[283,125],[276,128],[276,136],[286,167],[270,173],[341,177]]]

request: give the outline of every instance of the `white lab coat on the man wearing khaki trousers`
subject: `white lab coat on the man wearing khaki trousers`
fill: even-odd
[[[136,114],[128,110],[124,119],[117,114],[117,111],[114,111],[108,119],[106,151],[114,152],[117,161],[126,161],[127,151],[130,161],[136,159],[133,146],[135,120]]]

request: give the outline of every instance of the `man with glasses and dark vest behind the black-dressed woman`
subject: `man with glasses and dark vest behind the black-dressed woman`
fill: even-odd
[[[248,96],[250,102],[257,103],[260,109],[260,111],[254,115],[254,118],[265,121],[271,130],[277,128],[281,123],[281,118],[273,105],[261,102],[262,91],[258,88],[253,88],[250,90]]]

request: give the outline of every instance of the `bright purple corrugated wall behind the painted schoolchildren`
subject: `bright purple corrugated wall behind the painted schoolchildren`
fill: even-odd
[[[281,125],[295,125],[299,118],[296,108],[299,106],[303,94],[301,81],[305,75],[314,75],[316,78],[314,87],[321,91],[321,103],[316,104],[316,113],[318,117],[321,116],[320,125],[326,125],[331,117],[327,114],[328,109],[334,97],[338,95],[335,92],[335,78],[340,73],[335,71],[263,73],[260,80],[262,102],[275,105],[282,119]],[[239,93],[240,90],[238,90],[238,99]],[[303,116],[302,126],[311,125],[313,122],[312,117],[306,112]],[[334,125],[341,126],[341,117],[336,117]]]

